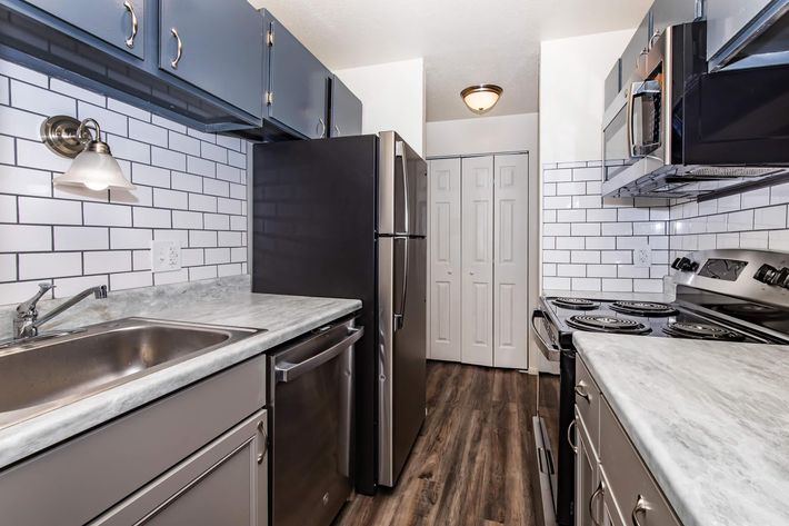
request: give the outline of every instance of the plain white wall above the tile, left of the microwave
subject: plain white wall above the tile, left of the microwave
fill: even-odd
[[[540,42],[540,162],[600,159],[603,82],[633,31]]]

